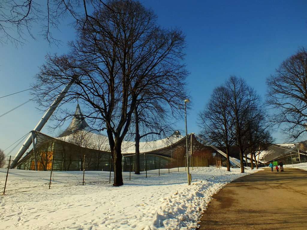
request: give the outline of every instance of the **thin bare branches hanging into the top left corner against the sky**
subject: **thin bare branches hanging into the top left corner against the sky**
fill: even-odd
[[[33,27],[41,28],[40,35],[49,43],[61,41],[52,35],[66,17],[73,23],[91,17],[93,9],[107,7],[102,0],[3,0],[0,3],[0,44],[13,42],[24,44],[27,36],[37,38]]]

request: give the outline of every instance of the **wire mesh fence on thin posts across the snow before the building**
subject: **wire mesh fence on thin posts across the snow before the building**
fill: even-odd
[[[52,189],[64,186],[88,185],[93,183],[113,183],[114,168],[112,160],[103,167],[103,171],[88,171],[86,161],[83,160],[80,171],[56,171],[52,159],[49,168],[45,171],[10,169],[14,157],[7,157],[0,162],[0,193],[13,194],[25,191]],[[189,161],[190,173],[195,168],[208,167],[208,159],[202,156],[193,156]],[[107,169],[107,170],[106,170]],[[144,157],[140,167],[140,174],[135,174],[133,158],[122,161],[123,180],[134,180],[186,171],[185,158],[165,159],[161,157]]]

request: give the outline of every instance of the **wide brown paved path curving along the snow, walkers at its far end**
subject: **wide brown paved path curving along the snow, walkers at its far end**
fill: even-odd
[[[213,196],[199,230],[307,229],[307,171],[270,169],[241,177]]]

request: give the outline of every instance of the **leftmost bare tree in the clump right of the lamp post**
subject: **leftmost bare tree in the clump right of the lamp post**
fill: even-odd
[[[200,136],[214,144],[225,148],[227,155],[227,171],[230,171],[229,148],[234,143],[234,121],[229,113],[230,95],[224,86],[213,90],[205,109],[198,114]]]

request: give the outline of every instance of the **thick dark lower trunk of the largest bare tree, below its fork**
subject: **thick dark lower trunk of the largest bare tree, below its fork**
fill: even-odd
[[[113,149],[113,159],[114,159],[114,183],[113,186],[122,186],[124,183],[122,181],[122,151],[121,143],[119,140],[116,140]],[[112,152],[111,152],[112,154]]]

